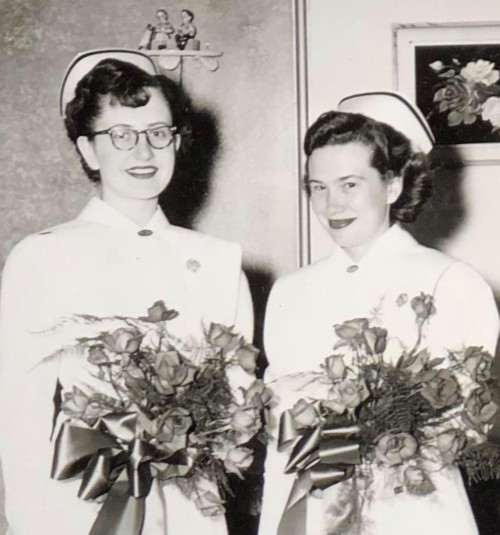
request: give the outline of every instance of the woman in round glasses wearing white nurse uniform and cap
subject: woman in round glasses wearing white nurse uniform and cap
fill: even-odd
[[[196,340],[208,322],[251,340],[253,315],[238,245],[169,224],[158,205],[181,144],[183,107],[171,82],[137,51],[81,54],[61,90],[61,113],[96,196],[72,221],[29,236],[10,254],[0,309],[1,454],[9,533],[89,533],[99,505],[78,481],[53,481],[54,391],[85,388],[84,357],[59,352],[77,327],[61,318],[144,315],[157,300]],[[54,328],[54,325],[58,325]],[[78,327],[80,328],[80,327]],[[47,355],[54,355],[46,359]],[[225,535],[174,485],[154,487],[142,533]]]

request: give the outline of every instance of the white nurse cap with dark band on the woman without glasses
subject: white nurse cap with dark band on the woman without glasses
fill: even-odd
[[[395,91],[370,91],[344,97],[338,111],[361,113],[392,126],[404,134],[414,150],[428,154],[435,143],[434,135],[422,112]]]

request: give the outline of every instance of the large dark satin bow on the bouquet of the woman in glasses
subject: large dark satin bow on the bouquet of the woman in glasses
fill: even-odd
[[[187,465],[180,450],[159,449],[136,438],[137,414],[100,418],[93,427],[64,422],[55,441],[51,477],[82,474],[78,496],[93,500],[107,493],[89,535],[140,535],[145,499],[153,482],[151,463]],[[181,475],[179,467],[167,476]]]

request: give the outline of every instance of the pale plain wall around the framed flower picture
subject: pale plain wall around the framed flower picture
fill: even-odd
[[[307,0],[309,120],[351,93],[394,89],[392,24],[500,21],[496,0]],[[500,141],[500,136],[499,136]],[[499,165],[440,172],[413,231],[428,245],[473,266],[500,296]],[[313,219],[313,257],[326,250]]]

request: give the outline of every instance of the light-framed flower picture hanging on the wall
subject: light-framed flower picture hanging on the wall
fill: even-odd
[[[436,152],[500,163],[500,22],[393,25],[394,87],[412,99]]]

